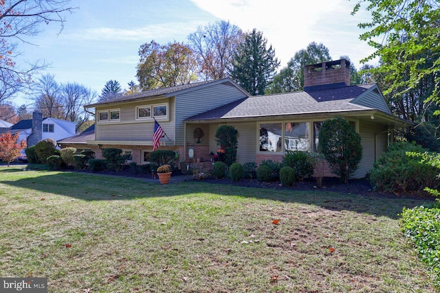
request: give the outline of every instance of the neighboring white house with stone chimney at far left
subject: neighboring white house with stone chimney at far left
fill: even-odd
[[[55,141],[72,137],[76,134],[76,122],[56,118],[44,118],[41,113],[34,112],[32,119],[21,120],[10,128],[12,134],[20,132],[19,141],[26,141],[28,146],[35,145],[42,139]]]

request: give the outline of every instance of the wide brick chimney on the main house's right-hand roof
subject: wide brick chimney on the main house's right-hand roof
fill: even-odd
[[[350,85],[350,62],[345,59],[306,65],[304,90]]]

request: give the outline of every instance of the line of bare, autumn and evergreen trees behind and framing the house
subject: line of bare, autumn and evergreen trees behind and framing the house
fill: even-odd
[[[41,70],[43,65],[34,64],[30,69],[23,70],[14,67],[17,44],[10,39],[38,33],[36,27],[43,15],[47,21],[57,21],[62,25],[63,13],[74,9],[67,7],[67,0],[29,1],[43,3],[39,7],[21,6],[22,2],[10,1],[10,6],[7,2],[0,2],[3,11],[0,19],[10,19],[0,24],[0,40],[6,48],[0,52],[0,89],[1,86],[4,89],[0,91],[0,119],[3,119],[1,113],[8,112],[2,109],[12,106],[9,99],[14,93],[24,91],[23,86],[29,88],[32,85],[36,108],[48,115],[85,121],[87,113],[80,113],[78,104],[82,106],[96,97],[105,101],[115,95],[203,80],[229,77],[252,95],[301,91],[304,66],[332,60],[325,45],[312,42],[297,51],[286,67],[278,70],[280,62],[263,32],[256,29],[243,32],[229,21],[218,21],[198,27],[186,42],[160,45],[150,40],[140,45],[137,82],[129,82],[128,89],[122,90],[118,81],[109,80],[98,96],[79,84],[56,84],[51,75],[42,75],[36,82],[31,82],[31,73]],[[361,0],[353,5],[352,12],[354,15],[360,10],[371,12],[371,20],[358,26],[364,30],[360,34],[361,40],[368,42],[375,51],[361,61],[364,65],[359,71],[351,66],[351,84],[377,82],[384,90],[384,97],[393,113],[419,122],[420,127],[415,131],[426,134],[428,138],[437,137],[440,124],[439,5],[436,0]],[[17,26],[20,24],[17,19],[23,17],[21,15],[25,15],[26,10],[32,10],[36,16],[27,22],[33,30],[23,31]],[[16,11],[20,13],[14,13]],[[52,15],[56,17],[50,17]],[[339,58],[349,60],[349,56]],[[380,60],[378,65],[368,64],[376,58]],[[21,75],[6,78],[14,71]],[[8,72],[9,75],[6,74]],[[52,96],[56,98],[52,99]],[[18,108],[17,114],[25,116],[26,109]]]

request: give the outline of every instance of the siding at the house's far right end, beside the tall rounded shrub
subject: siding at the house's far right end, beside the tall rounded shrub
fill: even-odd
[[[360,121],[359,132],[362,143],[362,160],[355,174],[353,174],[353,178],[365,177],[366,173],[373,167],[377,150],[381,152],[383,150],[383,134],[386,134],[386,127],[381,128],[378,124]]]

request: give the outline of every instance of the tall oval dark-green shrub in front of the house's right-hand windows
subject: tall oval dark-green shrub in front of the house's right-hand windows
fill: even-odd
[[[362,159],[360,135],[350,122],[342,117],[327,119],[319,131],[318,151],[329,162],[331,172],[349,183]]]

